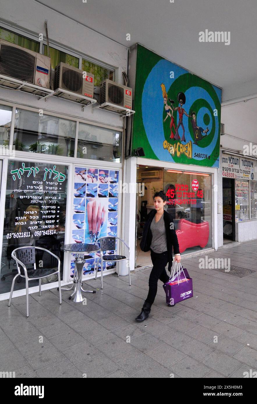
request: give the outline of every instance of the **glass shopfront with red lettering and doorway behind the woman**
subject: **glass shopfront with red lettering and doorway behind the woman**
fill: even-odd
[[[153,210],[155,192],[164,190],[165,210],[174,221],[181,254],[212,247],[212,175],[160,167],[137,167],[136,267],[151,266],[150,251],[140,241],[147,214]]]

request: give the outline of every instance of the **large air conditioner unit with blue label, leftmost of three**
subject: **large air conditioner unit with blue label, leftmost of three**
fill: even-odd
[[[0,40],[0,74],[36,86],[50,88],[51,59],[48,56]],[[17,85],[8,83],[8,87]],[[34,92],[33,88],[26,88]]]

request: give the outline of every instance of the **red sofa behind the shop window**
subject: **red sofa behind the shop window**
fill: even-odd
[[[205,247],[209,238],[209,223],[192,223],[181,219],[176,230],[180,252],[184,252],[189,247]]]

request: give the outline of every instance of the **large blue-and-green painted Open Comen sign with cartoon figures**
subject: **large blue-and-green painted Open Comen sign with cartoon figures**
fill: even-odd
[[[142,147],[145,158],[219,167],[221,89],[141,45],[136,52],[132,155]]]

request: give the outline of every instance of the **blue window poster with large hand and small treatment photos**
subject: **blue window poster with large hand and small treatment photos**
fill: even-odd
[[[75,166],[71,243],[95,243],[100,237],[117,236],[118,184],[119,170]],[[99,257],[100,253],[85,255],[84,275],[94,273]],[[71,259],[71,277],[74,275],[74,259],[75,255]],[[104,270],[113,268],[115,263],[103,263]],[[98,269],[101,269],[100,261]]]

